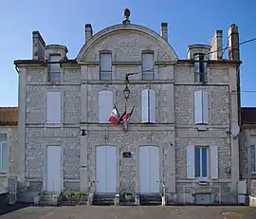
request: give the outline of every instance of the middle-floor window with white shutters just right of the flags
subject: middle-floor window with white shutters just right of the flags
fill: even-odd
[[[141,122],[155,123],[155,90],[141,91]]]

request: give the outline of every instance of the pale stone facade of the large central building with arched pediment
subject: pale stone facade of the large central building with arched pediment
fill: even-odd
[[[179,60],[161,33],[131,24],[93,34],[76,59],[33,32],[32,60],[19,72],[19,188],[28,192],[161,194],[168,202],[236,203],[239,181],[238,29]],[[125,76],[130,98],[125,100]],[[129,130],[110,125],[135,104]],[[128,156],[128,157],[127,157]],[[209,196],[200,196],[202,193]]]

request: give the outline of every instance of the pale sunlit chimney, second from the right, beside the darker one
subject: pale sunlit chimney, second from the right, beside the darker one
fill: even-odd
[[[210,52],[211,60],[222,60],[222,54],[223,54],[223,31],[218,29],[215,31],[214,35],[211,38],[210,42]]]

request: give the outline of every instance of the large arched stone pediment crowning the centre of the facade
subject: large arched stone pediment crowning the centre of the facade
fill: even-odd
[[[111,51],[113,62],[141,62],[141,52],[155,52],[155,62],[178,60],[172,46],[155,31],[137,25],[117,25],[102,29],[82,46],[78,63],[99,62],[101,51]]]

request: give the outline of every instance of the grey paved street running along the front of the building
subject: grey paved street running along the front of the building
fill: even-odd
[[[0,216],[1,219],[255,219],[248,207],[27,207]]]

